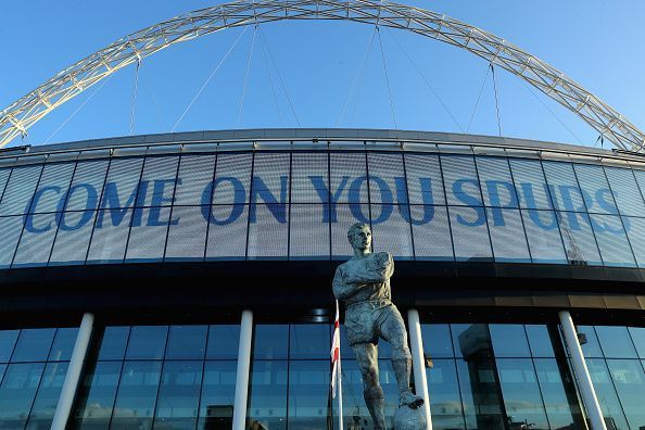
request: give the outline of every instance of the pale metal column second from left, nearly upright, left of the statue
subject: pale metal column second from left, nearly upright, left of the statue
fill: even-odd
[[[240,346],[238,349],[238,374],[233,405],[233,430],[246,428],[246,400],[249,397],[249,370],[251,368],[251,341],[253,339],[253,313],[242,312]]]

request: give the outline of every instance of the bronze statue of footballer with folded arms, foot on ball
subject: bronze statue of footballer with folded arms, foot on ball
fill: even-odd
[[[390,277],[394,261],[387,252],[371,253],[371,230],[363,223],[347,231],[354,256],[338,266],[333,295],[345,303],[347,340],[363,374],[363,395],[376,430],[385,429],[383,390],[379,382],[378,342],[392,345],[392,367],[399,385],[399,406],[418,408],[423,399],[409,388],[412,355],[401,313],[392,303]]]

